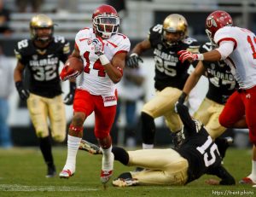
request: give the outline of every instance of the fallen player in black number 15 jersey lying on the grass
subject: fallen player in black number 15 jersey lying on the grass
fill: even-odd
[[[141,149],[125,151],[113,147],[114,159],[123,165],[139,166],[146,170],[122,173],[113,180],[113,185],[126,187],[132,185],[185,185],[204,174],[221,178],[210,179],[209,184],[233,185],[234,177],[221,165],[217,145],[207,130],[196,119],[191,119],[188,107],[176,104],[177,113],[183,122],[185,140],[178,149]],[[100,148],[90,142],[82,141],[80,148],[91,154],[101,154]]]

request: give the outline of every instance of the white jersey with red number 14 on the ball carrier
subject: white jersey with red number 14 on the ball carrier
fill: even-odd
[[[84,75],[78,89],[87,90],[91,95],[96,96],[114,96],[115,85],[105,72],[98,55],[95,54],[92,44],[94,38],[96,38],[96,34],[91,28],[79,31],[75,38],[80,56],[84,61]],[[131,46],[129,38],[121,33],[104,39],[103,43],[104,52],[109,61],[120,52],[128,53]]]

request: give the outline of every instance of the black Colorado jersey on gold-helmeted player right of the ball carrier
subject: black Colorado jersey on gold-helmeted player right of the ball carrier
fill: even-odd
[[[184,38],[173,46],[166,46],[162,39],[162,25],[158,24],[150,28],[148,40],[154,49],[155,76],[154,87],[163,90],[166,87],[174,87],[183,90],[189,77],[189,61],[182,63],[178,60],[177,51],[189,50],[198,52],[199,43],[194,38]]]

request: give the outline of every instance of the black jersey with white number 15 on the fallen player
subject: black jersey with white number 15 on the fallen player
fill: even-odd
[[[191,119],[188,107],[178,103],[177,112],[183,121],[185,136],[185,141],[177,149],[177,153],[189,162],[187,183],[190,183],[212,169],[218,168],[221,165],[221,158],[217,145],[201,122]]]

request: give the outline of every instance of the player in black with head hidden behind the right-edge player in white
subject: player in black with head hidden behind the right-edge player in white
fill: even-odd
[[[200,53],[211,51],[214,45],[211,42],[201,45]],[[218,116],[224,108],[224,104],[228,97],[236,90],[236,80],[230,72],[224,61],[199,61],[187,79],[183,88],[183,93],[179,97],[179,101],[183,102],[189,92],[195,87],[202,75],[205,75],[209,81],[209,87],[206,98],[201,102],[201,106],[195,112],[193,117],[201,120],[212,139],[216,139],[218,149],[222,157],[224,151],[228,147],[228,142],[224,138],[218,138],[224,133],[224,126],[218,122]]]

